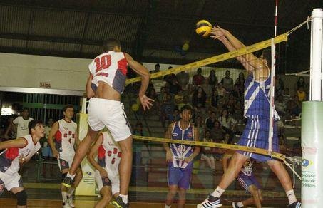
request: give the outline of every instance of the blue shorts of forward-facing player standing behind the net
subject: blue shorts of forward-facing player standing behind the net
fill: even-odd
[[[168,185],[176,185],[182,189],[190,188],[193,165],[186,168],[174,167],[173,162],[168,162]]]

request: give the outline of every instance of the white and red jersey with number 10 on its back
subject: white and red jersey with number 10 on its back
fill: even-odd
[[[118,93],[123,93],[127,65],[128,61],[122,52],[108,51],[107,53],[102,53],[88,65],[93,77],[92,84],[98,86],[98,82],[103,81]]]

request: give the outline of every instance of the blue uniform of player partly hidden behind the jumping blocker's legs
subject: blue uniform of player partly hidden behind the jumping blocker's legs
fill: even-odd
[[[237,180],[247,192],[249,192],[249,187],[251,185],[255,185],[257,189],[261,189],[259,182],[252,172],[254,162],[255,160],[252,159],[247,160],[237,176]]]

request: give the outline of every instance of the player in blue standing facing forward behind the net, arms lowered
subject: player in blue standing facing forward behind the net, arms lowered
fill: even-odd
[[[198,130],[190,123],[192,108],[184,105],[180,109],[180,121],[169,125],[165,137],[171,140],[198,141]],[[185,207],[186,190],[190,187],[193,159],[200,147],[170,143],[164,145],[168,162],[168,194],[165,208],[170,208],[178,192],[178,207]]]

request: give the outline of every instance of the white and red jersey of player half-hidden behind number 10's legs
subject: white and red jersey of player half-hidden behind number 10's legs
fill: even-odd
[[[103,142],[98,147],[98,165],[106,168],[109,177],[118,175],[118,166],[121,160],[121,150],[113,140],[110,132],[103,132]]]

